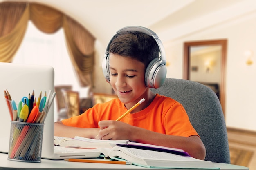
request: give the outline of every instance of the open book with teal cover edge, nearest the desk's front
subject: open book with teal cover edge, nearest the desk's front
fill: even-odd
[[[177,155],[167,152],[144,150],[114,146],[113,148],[98,148],[104,157],[112,160],[128,161],[137,166],[147,168],[216,168],[211,161],[203,161],[190,156]]]

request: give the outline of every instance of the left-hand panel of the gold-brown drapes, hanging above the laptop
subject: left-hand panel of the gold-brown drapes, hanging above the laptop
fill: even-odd
[[[0,4],[0,62],[11,62],[27,29],[29,5],[3,2]]]

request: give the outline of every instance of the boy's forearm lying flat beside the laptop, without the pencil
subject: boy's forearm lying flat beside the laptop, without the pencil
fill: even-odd
[[[54,136],[61,137],[87,137],[94,139],[99,133],[99,128],[77,128],[72,126],[66,126],[61,121],[54,123]]]

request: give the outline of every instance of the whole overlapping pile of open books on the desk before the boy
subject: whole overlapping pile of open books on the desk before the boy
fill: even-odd
[[[54,144],[62,147],[95,149],[101,157],[115,161],[127,161],[147,168],[202,168],[220,169],[211,161],[191,157],[184,150],[128,140],[96,140],[84,137],[54,137]]]

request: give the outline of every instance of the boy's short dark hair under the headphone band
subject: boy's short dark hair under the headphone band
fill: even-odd
[[[159,57],[159,47],[155,39],[139,31],[117,33],[109,46],[109,53],[131,57],[144,63],[145,68]]]

